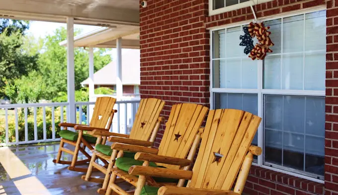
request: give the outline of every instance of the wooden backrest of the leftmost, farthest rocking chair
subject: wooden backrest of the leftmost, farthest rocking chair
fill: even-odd
[[[95,107],[89,126],[98,128],[110,128],[106,126],[108,120],[112,120],[110,116],[113,111],[115,102],[116,99],[111,97],[96,98]]]

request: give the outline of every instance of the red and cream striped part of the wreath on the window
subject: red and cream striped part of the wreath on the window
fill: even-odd
[[[254,38],[256,37],[258,43],[254,46],[251,50],[249,57],[253,60],[263,60],[266,56],[267,52],[272,52],[269,48],[273,46],[269,35],[271,34],[270,31],[267,31],[270,27],[265,27],[263,22],[261,23],[253,23],[249,24],[249,33]]]

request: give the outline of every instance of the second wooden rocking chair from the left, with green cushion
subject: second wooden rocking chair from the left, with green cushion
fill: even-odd
[[[94,130],[90,132],[92,136],[97,137],[95,149],[92,150],[90,164],[86,175],[82,176],[84,181],[95,182],[103,184],[102,188],[98,190],[98,193],[104,194],[111,174],[111,169],[114,165],[117,157],[134,158],[135,153],[112,150],[111,146],[100,144],[100,136],[111,136],[108,140],[115,143],[124,143],[139,145],[145,147],[152,147],[157,132],[160,128],[161,121],[164,121],[164,117],[160,116],[160,113],[165,105],[165,101],[157,98],[141,99],[139,108],[135,115],[134,124],[132,126],[130,135],[126,138],[116,137],[116,134],[112,134],[107,131]],[[96,163],[97,158],[105,159],[109,162],[108,168]],[[105,174],[104,178],[91,177],[92,169],[95,168]],[[108,171],[107,171],[108,170]]]

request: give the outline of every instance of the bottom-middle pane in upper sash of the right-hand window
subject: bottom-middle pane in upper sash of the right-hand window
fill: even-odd
[[[283,90],[303,90],[303,59],[303,54],[283,55]]]

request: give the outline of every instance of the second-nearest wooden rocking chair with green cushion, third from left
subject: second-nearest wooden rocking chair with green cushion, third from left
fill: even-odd
[[[115,153],[118,150],[145,153],[142,153],[141,156],[135,156],[135,159],[116,159],[115,167],[112,169],[112,175],[109,181],[110,188],[107,189],[106,195],[110,195],[112,191],[119,195],[129,195],[129,192],[122,190],[115,184],[117,176],[133,186],[137,186],[136,190],[140,189],[139,186],[144,185],[146,181],[156,186],[177,185],[177,179],[137,177],[135,175],[129,175],[128,170],[133,165],[142,165],[143,163],[146,163],[147,166],[156,168],[163,167],[161,169],[168,170],[179,170],[183,169],[183,167],[187,169],[192,164],[194,151],[199,145],[200,136],[198,134],[202,133],[202,130],[199,131],[199,129],[207,111],[207,107],[194,103],[179,103],[173,105],[159,149],[120,143],[112,144],[111,148]],[[190,150],[190,148],[192,148],[192,150]],[[188,158],[185,159],[189,150],[191,152]],[[140,159],[147,161],[139,161]],[[157,160],[155,161],[156,163],[152,162],[153,159]],[[166,164],[168,161],[171,163]]]

